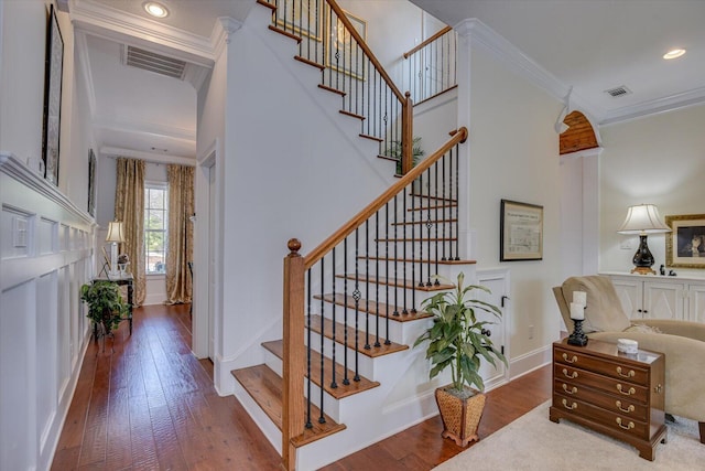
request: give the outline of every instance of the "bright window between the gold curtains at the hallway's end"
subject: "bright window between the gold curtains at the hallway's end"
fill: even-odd
[[[144,260],[147,275],[166,272],[166,183],[144,184]]]

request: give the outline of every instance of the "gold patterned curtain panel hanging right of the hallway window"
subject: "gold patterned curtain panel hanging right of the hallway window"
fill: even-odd
[[[193,260],[194,168],[166,165],[169,182],[169,247],[166,250],[166,302],[191,302]]]

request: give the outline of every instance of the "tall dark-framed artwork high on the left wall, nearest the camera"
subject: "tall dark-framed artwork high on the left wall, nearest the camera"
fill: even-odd
[[[64,71],[64,40],[58,29],[54,4],[50,7],[46,28],[44,76],[44,122],[42,160],[44,178],[58,184],[58,138],[61,135],[62,75]]]

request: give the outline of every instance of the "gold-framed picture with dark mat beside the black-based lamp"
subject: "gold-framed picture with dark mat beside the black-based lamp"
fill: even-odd
[[[665,265],[705,268],[705,214],[665,216]]]

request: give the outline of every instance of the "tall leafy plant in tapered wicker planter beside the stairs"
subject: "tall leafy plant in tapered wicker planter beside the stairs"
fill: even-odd
[[[479,374],[482,358],[492,365],[498,360],[507,365],[507,358],[490,340],[487,325],[494,322],[477,319],[478,310],[497,318],[501,318],[501,311],[471,298],[475,290],[490,291],[480,285],[464,287],[464,279],[460,272],[455,290],[440,292],[422,302],[423,310],[433,314],[433,324],[414,342],[414,346],[429,342],[426,358],[432,364],[431,379],[451,368],[453,382],[436,388],[435,397],[443,419],[442,436],[452,438],[460,447],[478,439],[477,427],[486,400],[485,383]]]

